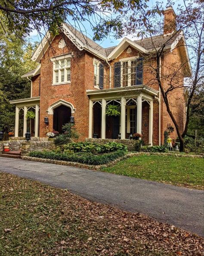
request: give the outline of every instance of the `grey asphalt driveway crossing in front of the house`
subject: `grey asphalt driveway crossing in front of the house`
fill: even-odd
[[[0,171],[67,188],[204,236],[204,191],[71,166],[0,158]]]

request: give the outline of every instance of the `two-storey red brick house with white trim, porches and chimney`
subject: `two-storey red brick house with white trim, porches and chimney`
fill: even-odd
[[[180,74],[182,86],[171,95],[181,128],[185,121],[183,80],[191,75],[188,52],[180,43],[185,41],[184,35],[179,33],[169,40],[172,23],[175,13],[170,6],[164,11],[164,34],[137,41],[125,37],[117,46],[108,48],[68,24],[63,24],[62,34],[52,37],[47,33],[32,56],[39,66],[22,76],[31,80],[31,97],[10,101],[16,106],[15,137],[25,135],[27,129],[34,137],[46,137],[46,130],[62,132],[62,125],[74,117],[82,140],[130,139],[138,132],[145,144],[162,144],[164,131],[173,123],[157,82],[150,83],[148,56],[155,46],[167,42],[161,57],[161,75],[174,62],[187,63]],[[155,59],[151,59],[152,65]],[[109,105],[118,106],[120,116],[107,116]],[[28,122],[29,110],[35,112],[35,120]],[[19,116],[23,120],[22,134]],[[176,137],[175,131],[172,136]]]

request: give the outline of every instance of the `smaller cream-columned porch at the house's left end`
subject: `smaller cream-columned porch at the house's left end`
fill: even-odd
[[[11,100],[15,104],[15,137],[25,137],[29,131],[32,137],[39,136],[40,97]],[[34,112],[34,118],[28,119],[28,111]]]

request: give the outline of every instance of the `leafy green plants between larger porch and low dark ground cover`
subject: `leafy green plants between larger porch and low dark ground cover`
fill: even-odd
[[[113,152],[116,150],[127,151],[127,147],[124,144],[116,142],[108,142],[106,144],[98,144],[91,142],[73,142],[63,146],[63,150],[72,150],[76,152],[87,152],[93,154]]]

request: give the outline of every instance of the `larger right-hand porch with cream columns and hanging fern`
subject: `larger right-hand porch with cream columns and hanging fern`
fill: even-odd
[[[135,86],[87,91],[87,95],[90,98],[89,138],[124,140],[139,133],[145,144],[152,145],[153,100],[158,91]],[[108,115],[110,105],[119,110],[117,116]]]

